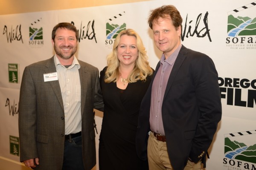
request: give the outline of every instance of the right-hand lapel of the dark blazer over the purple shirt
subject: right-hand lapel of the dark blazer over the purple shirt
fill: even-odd
[[[187,52],[186,51],[186,47],[184,47],[182,45],[182,47],[180,48],[180,52],[179,52],[179,54],[178,54],[178,56],[176,58],[176,61],[175,61],[174,65],[173,65],[172,72],[171,72],[171,74],[169,76],[169,79],[168,79],[168,82],[167,82],[167,85],[166,85],[166,91],[165,91],[164,96],[163,96],[163,100],[166,98],[166,95],[167,95],[169,89],[172,86],[172,82],[174,81],[174,79],[175,79],[175,77],[177,75],[177,72],[180,69],[180,65],[183,63],[184,59],[186,58],[186,55],[185,55],[186,52]]]

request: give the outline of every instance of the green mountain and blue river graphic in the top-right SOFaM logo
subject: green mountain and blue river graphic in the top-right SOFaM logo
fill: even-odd
[[[256,17],[234,17],[229,15],[227,19],[227,34],[230,37],[256,35]]]

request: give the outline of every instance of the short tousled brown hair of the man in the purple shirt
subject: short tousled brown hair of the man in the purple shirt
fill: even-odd
[[[153,22],[157,21],[160,17],[166,18],[169,16],[171,17],[172,23],[175,26],[175,28],[178,28],[179,26],[182,28],[182,17],[175,6],[164,5],[154,10],[151,10],[150,12],[151,13],[149,14],[148,17],[148,25],[151,29]]]

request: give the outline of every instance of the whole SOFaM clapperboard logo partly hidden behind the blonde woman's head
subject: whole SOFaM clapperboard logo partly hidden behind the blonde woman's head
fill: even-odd
[[[122,17],[124,14],[125,14],[125,11],[106,20],[105,45],[108,46],[109,48],[112,48],[112,44],[114,42],[113,39],[116,38],[116,36],[119,34],[119,32],[126,29],[126,23],[122,23],[122,22],[117,23],[119,20],[116,20],[117,18]],[[116,23],[112,23],[113,20],[115,20]]]

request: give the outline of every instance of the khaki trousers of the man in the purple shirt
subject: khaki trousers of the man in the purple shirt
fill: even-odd
[[[151,132],[148,137],[148,166],[149,170],[173,170],[166,142],[158,141]],[[188,160],[184,170],[201,170],[201,161],[195,164]]]

